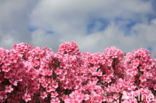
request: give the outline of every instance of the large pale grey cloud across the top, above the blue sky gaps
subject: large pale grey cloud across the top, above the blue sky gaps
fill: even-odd
[[[151,13],[142,0],[41,0],[32,14],[32,24],[60,34],[85,33],[92,18],[140,19]]]

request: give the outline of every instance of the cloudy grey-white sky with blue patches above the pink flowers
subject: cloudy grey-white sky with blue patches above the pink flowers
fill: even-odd
[[[74,40],[81,51],[116,46],[156,57],[156,0],[0,0],[0,47]]]

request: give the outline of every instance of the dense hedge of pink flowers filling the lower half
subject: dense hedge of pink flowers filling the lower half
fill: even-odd
[[[58,52],[26,43],[0,48],[0,103],[156,103],[156,59],[141,48]]]

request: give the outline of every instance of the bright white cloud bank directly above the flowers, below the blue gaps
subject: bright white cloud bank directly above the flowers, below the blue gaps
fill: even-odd
[[[150,23],[136,24],[129,36],[117,24],[111,23],[104,31],[77,39],[81,50],[103,51],[106,47],[116,46],[124,52],[139,48],[152,47],[152,56],[156,57],[156,19]]]

